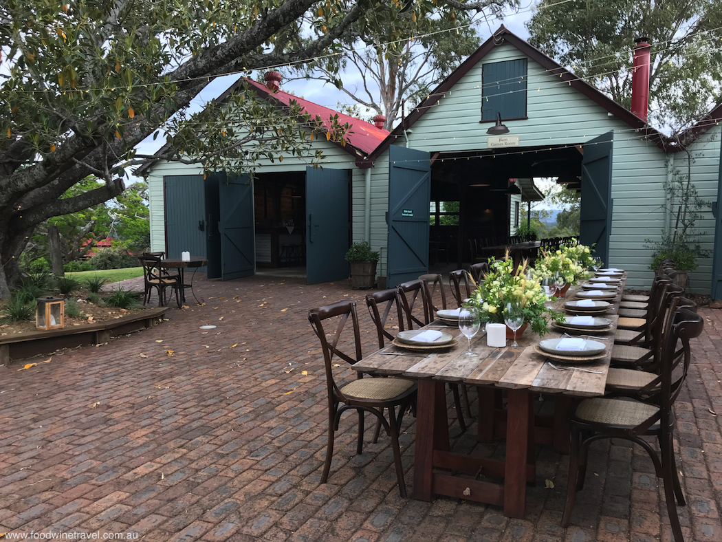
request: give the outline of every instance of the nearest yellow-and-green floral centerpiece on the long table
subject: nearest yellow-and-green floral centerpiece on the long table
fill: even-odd
[[[526,278],[526,261],[515,270],[513,259],[507,254],[505,259],[489,260],[489,273],[476,285],[466,306],[479,309],[482,322],[503,324],[505,305],[516,303],[523,311],[524,323],[530,324],[536,335],[544,335],[549,330],[547,316],[557,322],[564,319],[562,313],[547,311],[544,306],[547,300],[539,281]]]

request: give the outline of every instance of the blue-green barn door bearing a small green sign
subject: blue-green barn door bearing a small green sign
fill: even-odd
[[[388,264],[386,284],[393,288],[429,269],[430,154],[388,147]]]

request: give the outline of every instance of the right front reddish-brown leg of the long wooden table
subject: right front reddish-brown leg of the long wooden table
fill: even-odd
[[[504,515],[524,517],[526,464],[529,444],[534,442],[534,418],[529,390],[509,390],[507,444],[504,476]],[[532,452],[533,453],[533,452]]]

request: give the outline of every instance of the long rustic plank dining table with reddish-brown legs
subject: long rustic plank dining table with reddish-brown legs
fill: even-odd
[[[617,331],[617,307],[624,290],[626,277],[619,283],[613,310],[604,313],[612,320],[612,329],[596,335],[608,343],[606,356],[583,368],[601,371],[593,374],[584,371],[557,371],[546,362],[547,358],[534,352],[539,337],[530,330],[518,338],[522,348],[491,348],[486,336],[477,334],[472,349],[477,358],[462,356],[467,348],[466,337],[452,328],[458,345],[448,350],[430,353],[424,357],[389,356],[373,353],[354,365],[357,371],[372,374],[399,375],[417,379],[417,431],[414,451],[414,499],[430,501],[434,495],[454,496],[503,506],[508,517],[524,517],[526,484],[536,480],[534,445],[537,442],[568,445],[567,409],[574,397],[592,397],[604,394],[606,373]],[[574,297],[578,288],[570,288],[564,301]],[[432,322],[430,328],[437,322]],[[547,337],[560,337],[563,330],[551,327]],[[391,345],[384,352],[406,353],[408,350]],[[448,434],[446,382],[464,382],[479,386],[479,436],[486,438],[494,432],[494,390],[508,391],[503,431],[507,439],[505,460],[490,460],[452,452]],[[535,424],[532,397],[534,393],[555,395],[555,414],[551,423]],[[557,400],[558,398],[558,400]],[[476,474],[462,478],[449,471]],[[478,480],[480,475],[504,478],[503,483]]]

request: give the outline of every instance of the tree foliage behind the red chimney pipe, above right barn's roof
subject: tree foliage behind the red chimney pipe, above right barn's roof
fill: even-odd
[[[632,47],[651,40],[649,120],[681,128],[721,97],[722,2],[541,0],[529,41],[630,108]]]

